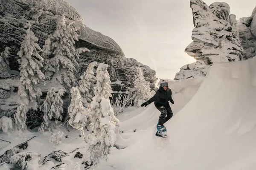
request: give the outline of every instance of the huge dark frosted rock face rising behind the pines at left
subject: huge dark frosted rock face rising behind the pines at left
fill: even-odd
[[[4,51],[5,47],[11,48],[9,62],[12,70],[19,71],[16,54],[25,36],[24,26],[28,21],[42,48],[47,36],[55,31],[57,15],[62,14],[65,15],[68,23],[75,22],[80,28],[76,48],[86,47],[90,50],[80,54],[77,78],[84,73],[87,65],[92,61],[105,62],[110,66],[111,82],[116,82],[117,79],[127,81],[125,75],[132,76],[133,72],[124,67],[134,67],[135,70],[140,65],[144,68],[145,77],[151,82],[151,87],[154,86],[156,81],[154,70],[135,59],[125,58],[122,49],[114,40],[85,26],[81,15],[64,0],[0,1],[0,31],[3,33],[0,36],[0,52]]]

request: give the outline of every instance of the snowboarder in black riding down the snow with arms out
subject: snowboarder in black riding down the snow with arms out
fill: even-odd
[[[151,102],[154,102],[155,107],[161,112],[157,123],[158,135],[161,132],[166,132],[166,127],[164,127],[163,124],[172,118],[173,113],[169,105],[169,101],[174,104],[172,99],[172,90],[169,88],[168,82],[166,80],[161,80],[160,87],[156,94],[141,105],[141,107],[146,107]]]

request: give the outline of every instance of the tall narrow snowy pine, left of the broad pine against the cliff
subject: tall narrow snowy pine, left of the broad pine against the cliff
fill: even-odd
[[[38,54],[41,48],[36,43],[38,41],[33,31],[30,30],[30,23],[27,25],[26,36],[21,43],[20,51],[17,53],[20,59],[20,85],[18,95],[20,106],[15,113],[15,124],[18,130],[26,129],[26,113],[32,109],[37,109],[37,98],[41,96],[41,89],[38,84],[44,83],[44,74],[41,72],[43,58]]]

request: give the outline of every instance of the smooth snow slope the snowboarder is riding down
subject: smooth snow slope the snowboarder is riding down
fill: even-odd
[[[133,128],[153,120],[154,125],[127,133],[132,142],[123,150],[113,149],[104,166],[119,170],[255,170],[255,65],[255,58],[214,63],[192,99],[166,122],[167,139],[154,136],[159,115],[154,104],[139,108],[144,116],[134,116],[121,125],[127,122],[131,126],[125,128]]]

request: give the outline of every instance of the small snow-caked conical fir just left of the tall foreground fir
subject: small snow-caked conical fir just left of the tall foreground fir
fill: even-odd
[[[68,107],[68,112],[70,115],[69,124],[79,130],[82,130],[83,127],[86,126],[87,123],[87,109],[84,108],[81,95],[79,93],[78,88],[71,88],[71,103]]]

